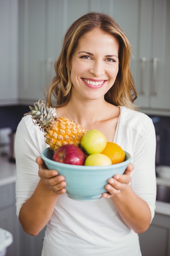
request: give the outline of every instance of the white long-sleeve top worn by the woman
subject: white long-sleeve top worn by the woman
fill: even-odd
[[[120,107],[115,143],[132,155],[131,187],[155,212],[155,128],[145,114]],[[15,138],[16,207],[32,195],[40,177],[37,156],[48,145],[31,116],[22,118]],[[111,199],[79,202],[60,195],[47,224],[42,256],[141,256],[139,237],[121,219]]]

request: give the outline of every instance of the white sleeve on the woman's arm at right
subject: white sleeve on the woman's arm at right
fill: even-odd
[[[132,171],[131,186],[135,193],[148,203],[152,221],[155,215],[157,187],[155,174],[156,136],[151,119],[149,119],[142,136],[138,134],[133,142],[135,169]]]

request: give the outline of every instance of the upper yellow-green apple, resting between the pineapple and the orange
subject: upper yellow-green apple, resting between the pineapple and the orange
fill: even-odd
[[[82,137],[81,146],[88,155],[101,153],[106,147],[106,136],[97,129],[91,129]]]

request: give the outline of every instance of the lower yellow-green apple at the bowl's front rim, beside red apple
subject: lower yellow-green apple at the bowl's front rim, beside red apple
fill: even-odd
[[[108,156],[103,155],[101,153],[88,155],[88,157],[84,162],[84,165],[88,165],[88,166],[89,165],[99,166],[99,165],[110,165],[110,164],[112,164],[111,159]]]

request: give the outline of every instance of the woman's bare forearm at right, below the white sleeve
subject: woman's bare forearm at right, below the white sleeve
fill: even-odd
[[[111,199],[128,227],[138,234],[148,229],[151,221],[150,208],[129,185]]]

